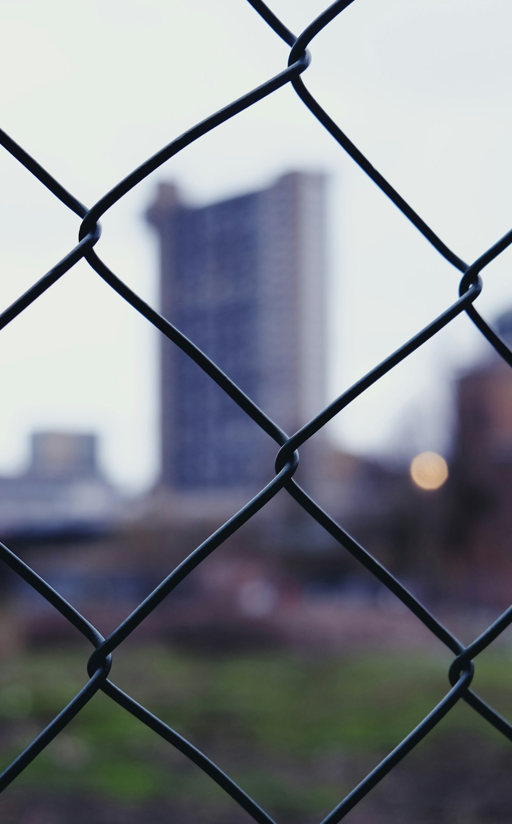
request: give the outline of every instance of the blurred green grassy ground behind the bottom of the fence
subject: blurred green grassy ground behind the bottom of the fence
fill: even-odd
[[[86,660],[87,653],[45,650],[4,662],[2,765],[78,691]],[[137,647],[115,655],[111,678],[217,761],[279,821],[306,822],[320,821],[439,702],[449,690],[448,666],[448,656],[419,654],[199,659]],[[509,653],[481,656],[473,683],[512,717]],[[460,702],[398,772],[402,784],[414,783],[416,773],[431,775],[435,783],[434,767],[446,771],[447,754],[456,749],[462,751],[458,764],[468,761],[462,788],[472,770],[485,768],[478,753],[486,765],[491,760],[505,769],[509,747]],[[233,809],[200,770],[101,693],[4,797],[37,792],[95,794],[135,805],[172,799],[184,808],[193,799],[197,821],[201,805],[218,810],[221,818],[223,809]],[[245,818],[233,819],[238,820]],[[467,817],[470,824],[480,821]]]

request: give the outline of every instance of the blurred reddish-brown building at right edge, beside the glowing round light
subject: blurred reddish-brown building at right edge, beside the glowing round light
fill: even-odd
[[[512,346],[512,311],[496,331]],[[453,589],[508,605],[512,586],[512,370],[493,350],[459,377],[450,487]]]

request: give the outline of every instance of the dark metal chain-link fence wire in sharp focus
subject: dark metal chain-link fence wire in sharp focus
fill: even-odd
[[[477,325],[481,334],[486,337],[491,346],[500,354],[500,357],[512,366],[512,352],[510,352],[505,342],[487,325],[486,321],[483,320],[475,308],[475,302],[481,293],[481,272],[486,265],[490,264],[492,260],[495,260],[497,255],[500,255],[500,253],[512,243],[512,230],[501,237],[500,240],[496,241],[496,243],[480,255],[477,260],[474,260],[469,265],[465,263],[427,226],[411,206],[402,199],[401,195],[397,193],[388,180],[385,180],[383,176],[373,168],[369,160],[364,157],[354,143],[352,143],[341,130],[340,126],[330,118],[328,113],[322,109],[322,106],[317,103],[308,91],[302,77],[311,59],[308,52],[308,45],[314,37],[325,26],[328,26],[336,16],[340,15],[353,0],[337,0],[337,2],[332,3],[331,6],[328,7],[325,12],[322,12],[317,19],[312,21],[298,37],[292,34],[292,32],[284,26],[284,23],[275,16],[274,12],[265,6],[265,3],[261,2],[261,0],[249,0],[249,2],[254,11],[270,26],[270,30],[273,32],[273,35],[270,36],[275,35],[279,37],[290,47],[291,50],[289,52],[287,67],[279,74],[276,74],[275,77],[270,77],[270,79],[262,83],[261,86],[247,91],[247,94],[238,100],[229,103],[223,109],[218,110],[200,123],[195,124],[171,143],[168,143],[167,146],[163,147],[153,155],[153,157],[150,157],[146,162],[143,162],[141,166],[132,171],[124,180],[121,180],[118,185],[98,200],[92,208],[87,208],[80,203],[73,194],[69,193],[59,184],[58,180],[55,180],[34,158],[30,157],[21,146],[17,145],[6,133],[0,131],[0,143],[2,143],[2,146],[7,152],[10,152],[12,157],[16,158],[17,161],[25,166],[32,175],[40,180],[42,185],[45,185],[56,198],[77,214],[82,221],[78,233],[78,244],[68,252],[68,255],[66,255],[63,260],[59,260],[49,272],[34,283],[16,302],[12,303],[12,306],[2,311],[2,314],[0,314],[0,329],[10,323],[32,302],[37,300],[46,289],[49,289],[83,258],[87,260],[87,263],[101,279],[106,281],[120,297],[124,298],[125,301],[134,307],[135,311],[138,311],[144,316],[149,323],[153,324],[157,330],[160,330],[162,335],[166,335],[167,338],[186,353],[199,368],[203,369],[209,378],[216,382],[218,386],[263,429],[269,438],[274,439],[278,447],[275,461],[275,475],[270,477],[264,489],[261,489],[239,512],[234,514],[222,527],[210,535],[204,543],[198,546],[182,561],[107,638],[103,638],[91,623],[80,615],[71,604],[65,601],[59,592],[56,592],[45,580],[40,578],[33,569],[14,555],[6,546],[0,545],[0,557],[2,561],[23,578],[26,583],[30,584],[32,588],[39,592],[40,595],[45,597],[46,601],[54,606],[54,609],[58,610],[78,632],[81,632],[87,640],[91,642],[93,647],[92,655],[87,663],[87,673],[89,677],[87,683],[48,726],[35,737],[31,744],[21,752],[21,755],[19,755],[15,761],[12,761],[12,763],[7,766],[7,769],[2,772],[0,776],[0,790],[5,789],[16,779],[16,776],[21,774],[22,770],[25,770],[26,766],[29,765],[49,742],[87,705],[87,702],[93,699],[97,691],[103,691],[111,700],[115,701],[127,712],[134,715],[135,718],[146,724],[148,728],[151,728],[157,735],[169,742],[171,746],[181,751],[190,761],[193,761],[201,770],[204,770],[211,779],[217,782],[217,784],[233,798],[234,802],[247,811],[254,821],[260,822],[260,824],[273,824],[273,819],[270,815],[265,812],[256,801],[250,798],[243,789],[238,787],[228,775],[223,773],[213,761],[210,761],[206,755],[197,750],[190,742],[186,741],[184,737],[181,737],[168,727],[162,719],[157,718],[149,712],[148,709],[137,703],[133,698],[124,693],[124,691],[120,690],[120,688],[110,680],[109,675],[112,653],[115,648],[123,643],[124,639],[156,609],[164,598],[172,597],[171,593],[174,588],[176,588],[186,576],[192,574],[195,567],[197,567],[203,559],[221,545],[228,536],[233,535],[237,529],[242,527],[242,524],[247,522],[255,513],[264,507],[281,489],[284,489],[310,517],[314,518],[326,532],[339,542],[345,551],[353,555],[379,582],[383,583],[394,596],[399,598],[416,618],[439,639],[439,642],[444,644],[453,653],[453,662],[449,667],[450,688],[446,695],[444,695],[443,700],[441,700],[437,706],[434,706],[425,719],[423,719],[415,729],[411,730],[411,733],[409,733],[355,789],[352,789],[345,798],[341,799],[336,808],[329,812],[322,821],[322,824],[335,824],[335,822],[341,821],[346,813],[354,808],[355,805],[369,793],[375,784],[378,784],[378,781],[380,781],[389,770],[392,770],[413,747],[416,747],[416,744],[439,723],[444,715],[449,713],[450,709],[452,709],[459,700],[467,702],[483,719],[486,719],[488,723],[492,724],[500,733],[512,741],[512,725],[502,718],[495,709],[481,700],[471,689],[473,661],[477,658],[477,655],[486,649],[510,624],[512,621],[512,606],[489,626],[485,632],[475,639],[472,644],[464,646],[449,630],[445,629],[444,626],[439,623],[439,620],[437,620],[430,611],[425,609],[425,606],[422,606],[416,597],[411,595],[411,592],[408,592],[400,581],[394,578],[364,547],[359,545],[344,531],[328,513],[324,512],[294,480],[294,472],[298,466],[299,447],[308,441],[309,438],[312,438],[319,429],[349,405],[352,400],[355,400],[355,398],[369,386],[372,386],[379,378],[394,368],[397,363],[400,363],[404,358],[424,344],[425,341],[436,335],[439,330],[442,330],[444,326],[448,325],[450,321],[453,321],[453,319],[461,313],[466,312],[473,323]],[[382,363],[379,363],[378,366],[364,375],[364,377],[361,377],[359,381],[341,396],[337,397],[336,400],[333,400],[325,409],[319,411],[316,417],[291,437],[284,433],[279,426],[265,414],[264,410],[259,409],[252,400],[230,380],[228,375],[224,374],[215,363],[195,346],[192,340],[182,335],[180,330],[176,329],[169,321],[160,316],[157,311],[148,306],[146,302],[143,302],[136,293],[123,283],[123,281],[106,266],[96,254],[95,250],[96,243],[101,236],[101,225],[99,222],[101,216],[122,198],[124,194],[127,194],[127,192],[138,185],[141,180],[150,175],[159,166],[162,166],[163,163],[176,155],[177,152],[180,152],[182,148],[190,145],[190,143],[193,143],[205,133],[215,129],[219,124],[235,117],[239,112],[247,109],[249,106],[256,105],[258,101],[261,101],[280,87],[288,84],[293,87],[300,100],[308,107],[311,115],[331,133],[332,138],[336,140],[341,149],[347,152],[360,169],[378,185],[378,188],[382,190],[383,194],[392,200],[404,217],[416,226],[421,235],[424,236],[425,241],[434,246],[434,248],[439,251],[439,254],[443,255],[444,259],[453,265],[455,269],[458,269],[462,275],[458,291],[459,297],[451,306],[441,315],[435,317],[424,329],[418,331],[416,335],[402,344],[402,346],[389,355],[388,358],[385,358]]]

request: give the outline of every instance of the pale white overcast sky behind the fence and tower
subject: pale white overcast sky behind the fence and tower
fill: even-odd
[[[275,0],[297,34],[317,0]],[[505,0],[355,0],[312,43],[310,91],[464,260],[512,224]],[[2,128],[87,205],[197,120],[286,65],[244,0],[3,0]],[[156,305],[143,212],[157,182],[196,202],[323,169],[330,189],[330,389],[338,395],[457,297],[458,273],[346,157],[291,87],[167,162],[103,218],[96,247]],[[78,218],[0,152],[0,307],[77,239]],[[509,307],[507,250],[477,306]],[[511,296],[512,297],[512,296]],[[157,455],[157,333],[81,264],[0,333],[0,472],[34,428],[94,429],[114,480],[143,488]],[[442,448],[449,381],[485,352],[461,317],[331,424],[362,451]],[[406,446],[404,446],[404,444]]]

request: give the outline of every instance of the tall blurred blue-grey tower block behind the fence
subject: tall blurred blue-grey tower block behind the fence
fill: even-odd
[[[292,434],[325,401],[325,177],[293,172],[207,206],[159,186],[160,311]],[[162,336],[162,485],[250,488],[274,475],[275,442]]]

